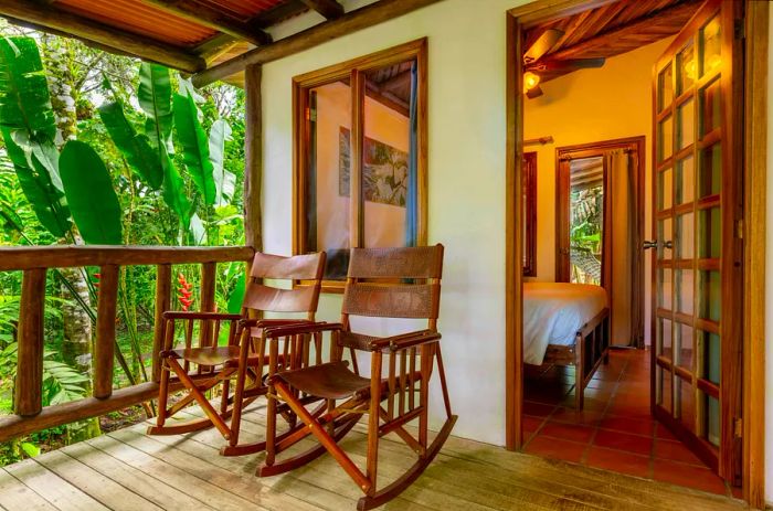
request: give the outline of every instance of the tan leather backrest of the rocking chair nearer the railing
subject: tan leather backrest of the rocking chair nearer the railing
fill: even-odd
[[[261,312],[307,312],[314,319],[319,301],[325,253],[284,257],[255,254],[251,280],[244,295],[244,308]],[[282,289],[266,286],[263,279],[310,280],[308,286]]]

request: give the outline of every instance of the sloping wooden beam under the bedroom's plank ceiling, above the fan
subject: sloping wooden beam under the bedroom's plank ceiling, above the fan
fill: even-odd
[[[550,57],[555,61],[580,58],[590,51],[606,45],[613,45],[615,41],[629,35],[657,33],[663,38],[666,38],[679,31],[680,25],[682,25],[692,15],[697,6],[698,4],[696,2],[679,3],[675,7],[661,9],[660,11],[643,15],[632,23],[602,32],[594,38],[587,39],[563,50],[559,50],[558,52],[552,53]],[[673,29],[669,28],[669,21],[673,22]],[[658,24],[664,24],[667,26],[667,29],[657,32],[656,30]]]

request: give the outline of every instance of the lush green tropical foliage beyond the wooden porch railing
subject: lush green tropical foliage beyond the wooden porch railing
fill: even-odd
[[[160,65],[8,25],[0,31],[0,245],[243,244],[242,91],[197,91]],[[239,309],[244,267],[221,266],[218,308]],[[199,269],[176,267],[191,284],[192,310]],[[99,275],[75,275],[86,280],[85,296],[72,274],[49,273],[44,405],[89,393],[91,375],[67,360],[63,329],[67,307],[95,323]],[[155,284],[152,267],[121,269],[116,387],[149,375]],[[12,409],[20,294],[21,274],[0,273],[0,415]],[[84,427],[0,444],[0,466],[76,441]]]

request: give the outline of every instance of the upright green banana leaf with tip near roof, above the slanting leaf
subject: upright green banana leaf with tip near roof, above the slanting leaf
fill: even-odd
[[[144,62],[139,66],[139,106],[148,115],[145,129],[155,147],[168,147],[172,134],[172,83],[169,68]]]

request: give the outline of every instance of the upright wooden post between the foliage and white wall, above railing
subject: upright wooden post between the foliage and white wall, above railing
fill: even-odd
[[[263,110],[261,94],[263,68],[248,65],[244,70],[245,147],[244,147],[244,237],[255,252],[263,251],[261,187],[263,181]]]

